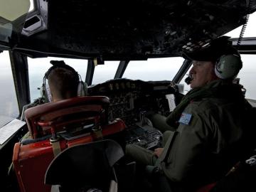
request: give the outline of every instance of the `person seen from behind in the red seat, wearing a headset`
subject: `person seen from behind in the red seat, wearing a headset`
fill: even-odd
[[[43,97],[46,102],[57,102],[85,94],[85,85],[78,87],[80,76],[72,67],[66,65],[63,60],[51,60],[50,63],[53,66],[43,77]],[[25,134],[23,139],[31,139],[30,133]]]

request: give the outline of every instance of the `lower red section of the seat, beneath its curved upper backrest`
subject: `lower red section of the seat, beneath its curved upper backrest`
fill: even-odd
[[[115,119],[102,126],[102,137],[111,137],[125,129],[122,119]],[[43,137],[41,137],[43,138]],[[54,150],[50,139],[30,139],[26,144],[16,143],[14,146],[13,163],[18,184],[22,192],[50,192],[50,186],[43,183],[46,170],[54,159]],[[97,140],[95,132],[82,134],[78,137],[65,139],[60,137],[60,151],[78,144],[85,144]],[[66,166],[64,166],[66,167]],[[69,176],[72,177],[72,176]]]

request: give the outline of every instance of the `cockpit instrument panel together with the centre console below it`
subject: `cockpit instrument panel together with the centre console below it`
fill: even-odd
[[[175,95],[175,102],[181,100],[182,95],[171,81],[117,79],[88,87],[88,95],[110,98],[108,119],[124,120],[126,143],[146,149],[160,147],[162,134],[151,124],[145,124],[145,119],[154,113],[168,115],[170,108],[166,95],[170,94]]]

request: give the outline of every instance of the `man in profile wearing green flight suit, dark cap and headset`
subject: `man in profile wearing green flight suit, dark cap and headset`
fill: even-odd
[[[169,117],[161,117],[166,121],[161,131],[169,129],[164,132],[164,148],[150,151],[128,144],[126,154],[139,164],[159,167],[171,185],[193,191],[218,181],[247,155],[251,106],[241,85],[233,83],[242,61],[228,37],[183,57],[193,60],[192,89]]]

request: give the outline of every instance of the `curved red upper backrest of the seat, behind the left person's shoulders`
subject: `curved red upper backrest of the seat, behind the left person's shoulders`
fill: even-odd
[[[36,139],[87,124],[107,124],[109,105],[109,98],[104,96],[74,97],[31,107],[25,111],[25,118],[31,137]]]

